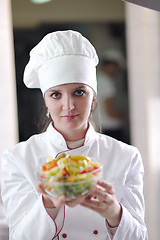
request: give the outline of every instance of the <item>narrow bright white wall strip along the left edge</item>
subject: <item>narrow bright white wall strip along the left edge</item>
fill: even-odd
[[[18,139],[16,82],[9,0],[0,3],[0,154]]]

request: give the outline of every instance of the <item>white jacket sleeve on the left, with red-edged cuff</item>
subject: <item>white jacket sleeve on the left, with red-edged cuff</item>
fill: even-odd
[[[10,152],[2,156],[2,201],[11,240],[51,240],[63,226],[64,207],[53,219],[32,181]]]

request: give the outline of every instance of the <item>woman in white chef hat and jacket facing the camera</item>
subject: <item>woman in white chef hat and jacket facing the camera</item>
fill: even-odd
[[[24,83],[41,89],[51,121],[45,132],[3,154],[2,199],[11,240],[148,239],[140,154],[95,132],[90,121],[97,64],[91,43],[71,30],[47,34],[30,52]],[[89,197],[67,202],[37,186],[42,159],[66,151],[101,160],[103,180]]]

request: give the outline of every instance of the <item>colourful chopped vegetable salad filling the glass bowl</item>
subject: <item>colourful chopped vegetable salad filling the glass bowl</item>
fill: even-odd
[[[45,190],[53,197],[65,195],[67,200],[87,195],[96,185],[101,165],[81,155],[60,154],[48,158],[40,170],[40,179]]]

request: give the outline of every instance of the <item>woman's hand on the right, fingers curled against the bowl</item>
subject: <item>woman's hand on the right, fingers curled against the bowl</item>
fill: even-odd
[[[122,210],[116,200],[114,188],[106,181],[98,180],[97,184],[95,191],[81,205],[99,213],[107,220],[110,227],[117,227],[121,219]],[[96,200],[92,198],[94,196],[97,197]]]

